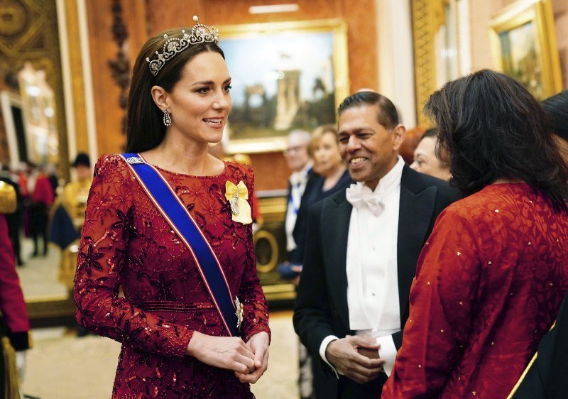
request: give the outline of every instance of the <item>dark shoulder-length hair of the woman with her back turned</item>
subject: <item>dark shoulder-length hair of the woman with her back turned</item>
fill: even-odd
[[[567,210],[568,165],[550,134],[547,116],[522,84],[480,70],[444,84],[425,112],[447,151],[452,182],[470,195],[503,178],[523,180],[556,210]]]

